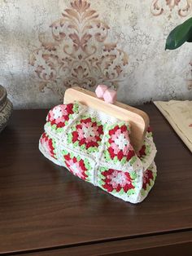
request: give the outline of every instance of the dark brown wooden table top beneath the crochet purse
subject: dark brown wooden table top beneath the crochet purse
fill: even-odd
[[[0,134],[0,254],[50,249],[45,255],[60,255],[51,252],[170,234],[177,239],[185,234],[185,241],[192,241],[191,153],[154,105],[141,109],[151,119],[158,175],[138,205],[81,181],[42,156],[38,139],[47,110],[14,111]]]

